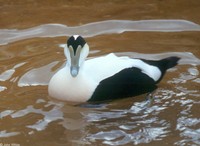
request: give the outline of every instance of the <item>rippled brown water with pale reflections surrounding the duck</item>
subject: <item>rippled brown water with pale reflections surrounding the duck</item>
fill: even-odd
[[[1,1],[0,146],[200,145],[199,1]],[[90,56],[181,57],[151,96],[98,105],[55,101],[63,44]]]

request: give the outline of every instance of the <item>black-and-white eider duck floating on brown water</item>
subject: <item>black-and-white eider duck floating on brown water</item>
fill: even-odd
[[[53,75],[48,92],[70,102],[100,102],[151,93],[179,57],[161,60],[118,57],[113,53],[86,60],[89,46],[73,35],[64,48],[66,65]]]

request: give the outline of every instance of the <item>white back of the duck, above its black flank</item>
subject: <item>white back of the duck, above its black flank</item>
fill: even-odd
[[[154,81],[161,76],[161,71],[152,65],[149,65],[139,59],[131,59],[129,57],[117,57],[113,53],[106,56],[86,60],[82,66],[82,71],[87,73],[89,78],[96,82],[100,82],[125,68],[137,67],[147,74]]]

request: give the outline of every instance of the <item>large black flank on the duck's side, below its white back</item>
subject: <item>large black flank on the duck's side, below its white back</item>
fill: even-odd
[[[127,68],[112,77],[102,80],[89,102],[132,97],[152,92],[157,88],[155,81],[140,69]]]

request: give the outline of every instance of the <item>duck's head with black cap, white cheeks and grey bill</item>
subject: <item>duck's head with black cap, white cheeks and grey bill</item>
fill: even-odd
[[[89,46],[83,37],[80,35],[73,35],[67,40],[64,54],[67,58],[67,65],[70,67],[70,74],[75,78],[89,54]]]

